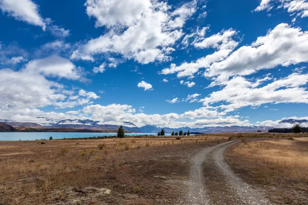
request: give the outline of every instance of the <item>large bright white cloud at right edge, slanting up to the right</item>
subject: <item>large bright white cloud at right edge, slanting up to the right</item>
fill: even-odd
[[[226,59],[213,63],[205,73],[207,77],[218,76],[217,81],[229,76],[249,75],[276,66],[287,67],[308,61],[308,32],[279,24],[260,36],[251,46],[243,46]]]

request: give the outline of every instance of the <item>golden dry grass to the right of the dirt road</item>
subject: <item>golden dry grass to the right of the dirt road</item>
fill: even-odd
[[[288,138],[290,136],[286,136]],[[308,138],[246,141],[226,158],[248,182],[278,204],[308,204]]]

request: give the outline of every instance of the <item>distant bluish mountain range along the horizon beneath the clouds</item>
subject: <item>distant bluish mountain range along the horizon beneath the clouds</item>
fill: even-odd
[[[59,122],[53,122],[52,120],[45,120],[50,121],[48,124],[37,124],[34,122],[12,122],[7,120],[1,120],[5,122],[5,124],[9,125],[6,129],[2,129],[6,132],[12,132],[13,127],[19,127],[23,129],[19,130],[28,130],[25,128],[61,128],[61,129],[77,129],[82,132],[82,130],[117,130],[119,129],[120,125],[109,125],[109,124],[102,124],[100,121],[93,121],[90,119],[65,119]],[[306,119],[284,119],[279,122],[279,124],[283,123],[290,123],[290,124],[301,124],[308,122]],[[204,128],[189,128],[189,127],[181,127],[181,128],[168,128],[168,127],[157,127],[152,125],[146,125],[143,127],[137,127],[136,125],[132,124],[129,121],[123,121],[121,123],[123,128],[128,132],[136,132],[136,133],[158,133],[162,129],[165,130],[166,133],[171,132],[178,132],[182,130],[183,132],[190,131],[190,132],[198,132],[198,133],[219,133],[219,132],[257,132],[260,131],[267,131],[268,129],[272,129],[273,127],[266,127],[266,126],[230,126],[230,127],[204,127]],[[2,124],[4,127],[4,125]],[[35,132],[35,129],[33,129]]]

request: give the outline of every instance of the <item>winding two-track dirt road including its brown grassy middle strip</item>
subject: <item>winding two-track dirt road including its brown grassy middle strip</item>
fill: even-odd
[[[225,149],[238,142],[224,142],[196,155],[190,169],[187,204],[271,204],[261,190],[247,185],[225,162]]]

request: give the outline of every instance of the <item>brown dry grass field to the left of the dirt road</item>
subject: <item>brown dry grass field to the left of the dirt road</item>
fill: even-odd
[[[76,197],[80,204],[177,204],[189,159],[216,143],[204,138],[0,141],[0,204],[70,204]],[[111,193],[83,191],[88,187]]]

